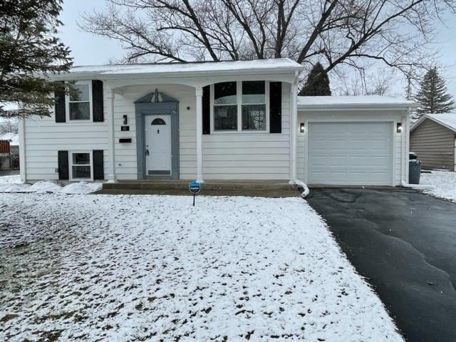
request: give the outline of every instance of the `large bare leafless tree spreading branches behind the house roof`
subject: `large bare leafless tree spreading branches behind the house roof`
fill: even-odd
[[[416,78],[456,0],[107,0],[81,27],[123,43],[122,62],[289,57],[326,72],[381,62]]]

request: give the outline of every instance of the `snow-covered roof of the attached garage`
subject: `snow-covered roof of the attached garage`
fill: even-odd
[[[380,95],[360,96],[298,96],[298,108],[343,107],[416,107],[412,101]]]

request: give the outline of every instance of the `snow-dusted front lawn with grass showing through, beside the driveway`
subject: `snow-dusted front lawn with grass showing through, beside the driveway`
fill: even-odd
[[[403,341],[304,200],[191,203],[0,194],[0,341]]]

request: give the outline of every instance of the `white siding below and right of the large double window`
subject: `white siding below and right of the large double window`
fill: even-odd
[[[282,83],[281,133],[203,135],[205,180],[289,180],[290,85]]]

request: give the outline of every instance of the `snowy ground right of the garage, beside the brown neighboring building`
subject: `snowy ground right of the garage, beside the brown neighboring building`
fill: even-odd
[[[422,173],[420,183],[434,186],[432,189],[425,190],[428,194],[456,202],[456,172],[432,171],[431,173]]]

